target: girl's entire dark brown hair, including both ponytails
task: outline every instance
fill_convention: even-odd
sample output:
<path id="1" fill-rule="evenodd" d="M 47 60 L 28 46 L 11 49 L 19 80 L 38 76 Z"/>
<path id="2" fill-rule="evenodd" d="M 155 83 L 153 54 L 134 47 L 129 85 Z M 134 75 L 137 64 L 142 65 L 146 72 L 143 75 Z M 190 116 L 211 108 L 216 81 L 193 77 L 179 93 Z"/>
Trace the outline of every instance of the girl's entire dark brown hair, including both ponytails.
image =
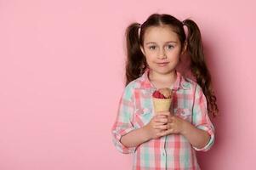
<path id="1" fill-rule="evenodd" d="M 181 22 L 169 14 L 151 14 L 142 25 L 133 23 L 128 26 L 126 30 L 128 56 L 126 61 L 126 85 L 145 72 L 147 64 L 145 56 L 140 50 L 140 46 L 143 47 L 146 29 L 151 26 L 163 25 L 171 26 L 177 33 L 181 48 L 184 48 L 185 42 L 187 42 L 186 51 L 191 57 L 191 72 L 196 77 L 196 82 L 200 85 L 203 94 L 207 98 L 208 112 L 212 113 L 213 116 L 217 116 L 219 109 L 213 93 L 210 72 L 204 59 L 201 33 L 193 20 L 184 20 Z M 183 26 L 187 26 L 188 28 L 187 37 L 185 36 Z"/>

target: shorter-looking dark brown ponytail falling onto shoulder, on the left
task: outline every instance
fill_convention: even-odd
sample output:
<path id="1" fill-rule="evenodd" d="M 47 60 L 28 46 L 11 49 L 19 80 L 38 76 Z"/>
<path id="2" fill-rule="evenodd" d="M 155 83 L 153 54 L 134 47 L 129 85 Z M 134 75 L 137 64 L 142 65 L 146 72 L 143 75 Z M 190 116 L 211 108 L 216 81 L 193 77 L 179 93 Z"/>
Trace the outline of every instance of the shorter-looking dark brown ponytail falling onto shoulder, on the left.
<path id="1" fill-rule="evenodd" d="M 140 50 L 139 27 L 138 23 L 133 23 L 126 30 L 126 85 L 140 77 L 146 68 L 145 56 Z"/>

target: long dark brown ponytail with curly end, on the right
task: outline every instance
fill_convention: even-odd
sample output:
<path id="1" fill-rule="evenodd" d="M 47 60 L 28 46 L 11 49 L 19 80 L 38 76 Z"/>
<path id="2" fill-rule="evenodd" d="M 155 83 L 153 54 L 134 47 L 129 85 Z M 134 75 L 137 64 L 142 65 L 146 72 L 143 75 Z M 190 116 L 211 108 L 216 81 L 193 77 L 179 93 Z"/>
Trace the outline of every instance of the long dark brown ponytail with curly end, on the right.
<path id="1" fill-rule="evenodd" d="M 188 28 L 187 51 L 191 56 L 191 72 L 207 98 L 208 112 L 217 116 L 219 109 L 213 93 L 211 75 L 204 59 L 200 30 L 193 20 L 184 20 L 183 24 Z"/>

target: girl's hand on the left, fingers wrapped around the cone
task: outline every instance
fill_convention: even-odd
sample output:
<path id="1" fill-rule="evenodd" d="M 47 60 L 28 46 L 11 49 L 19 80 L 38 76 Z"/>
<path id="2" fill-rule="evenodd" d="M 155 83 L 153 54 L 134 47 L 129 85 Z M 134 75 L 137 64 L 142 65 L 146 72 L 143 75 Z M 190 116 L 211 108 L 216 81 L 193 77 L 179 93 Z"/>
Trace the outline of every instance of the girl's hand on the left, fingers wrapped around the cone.
<path id="1" fill-rule="evenodd" d="M 169 114 L 169 112 L 159 112 L 156 116 L 153 116 L 151 122 L 145 125 L 145 129 L 147 130 L 150 139 L 158 139 L 162 137 L 161 133 L 166 129 L 162 129 L 160 127 L 168 124 Z"/>

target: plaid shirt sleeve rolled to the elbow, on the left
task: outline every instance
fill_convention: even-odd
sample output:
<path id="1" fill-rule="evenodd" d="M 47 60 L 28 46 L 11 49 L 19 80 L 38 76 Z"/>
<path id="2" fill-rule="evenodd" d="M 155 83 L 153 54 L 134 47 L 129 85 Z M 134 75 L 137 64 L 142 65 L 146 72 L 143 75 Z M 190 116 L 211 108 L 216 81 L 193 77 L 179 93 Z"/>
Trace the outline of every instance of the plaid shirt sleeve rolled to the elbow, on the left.
<path id="1" fill-rule="evenodd" d="M 133 92 L 128 87 L 126 87 L 122 94 L 122 98 L 119 101 L 116 122 L 111 128 L 113 144 L 116 146 L 117 150 L 123 154 L 133 153 L 136 149 L 136 147 L 126 147 L 120 141 L 123 135 L 135 129 L 132 123 L 133 114 Z"/>

